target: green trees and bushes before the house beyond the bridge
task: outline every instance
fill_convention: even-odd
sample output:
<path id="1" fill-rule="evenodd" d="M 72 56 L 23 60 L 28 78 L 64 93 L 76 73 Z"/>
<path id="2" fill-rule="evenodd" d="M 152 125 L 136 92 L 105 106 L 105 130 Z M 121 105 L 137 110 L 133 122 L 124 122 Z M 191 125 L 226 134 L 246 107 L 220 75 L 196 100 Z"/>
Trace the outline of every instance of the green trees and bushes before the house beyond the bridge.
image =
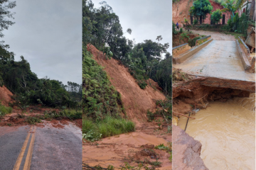
<path id="1" fill-rule="evenodd" d="M 219 31 L 235 33 L 235 35 L 240 34 L 240 36 L 243 35 L 246 38 L 248 26 L 255 27 L 255 21 L 253 20 L 253 11 L 255 11 L 255 6 L 251 5 L 250 8 L 248 8 L 247 4 L 245 13 L 242 13 L 239 17 L 237 11 L 242 7 L 242 4 L 244 4 L 246 0 L 220 0 L 215 2 L 221 4 L 223 9 L 212 11 L 213 8 L 210 7 L 210 2 L 208 0 L 197 0 L 193 2 L 193 6 L 190 8 L 190 13 L 194 17 L 193 25 L 198 24 L 198 18 L 205 18 L 207 13 L 211 13 L 211 21 L 213 24 L 219 23 L 222 18 L 222 13 L 225 12 L 228 13 L 228 25 L 219 27 Z M 252 4 L 255 4 L 255 0 L 252 1 Z M 201 28 L 203 30 L 215 30 L 215 27 L 210 27 L 208 24 L 198 26 L 196 28 Z"/>

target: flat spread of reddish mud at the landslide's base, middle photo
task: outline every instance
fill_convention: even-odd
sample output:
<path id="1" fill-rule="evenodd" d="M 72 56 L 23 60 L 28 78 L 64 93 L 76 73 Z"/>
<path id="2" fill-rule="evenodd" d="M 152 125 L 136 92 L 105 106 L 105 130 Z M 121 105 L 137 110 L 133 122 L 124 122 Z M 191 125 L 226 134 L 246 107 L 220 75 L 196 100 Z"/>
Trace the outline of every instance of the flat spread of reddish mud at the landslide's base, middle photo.
<path id="1" fill-rule="evenodd" d="M 157 169 L 171 169 L 168 152 L 154 149 L 156 145 L 167 142 L 153 135 L 142 132 L 131 132 L 114 137 L 108 137 L 100 142 L 84 143 L 82 145 L 82 161 L 90 166 L 100 165 L 107 168 L 109 164 L 121 169 L 128 162 L 130 166 L 138 166 L 137 162 L 161 162 Z M 107 153 L 107 154 L 105 154 Z M 150 167 L 150 165 L 149 165 Z"/>

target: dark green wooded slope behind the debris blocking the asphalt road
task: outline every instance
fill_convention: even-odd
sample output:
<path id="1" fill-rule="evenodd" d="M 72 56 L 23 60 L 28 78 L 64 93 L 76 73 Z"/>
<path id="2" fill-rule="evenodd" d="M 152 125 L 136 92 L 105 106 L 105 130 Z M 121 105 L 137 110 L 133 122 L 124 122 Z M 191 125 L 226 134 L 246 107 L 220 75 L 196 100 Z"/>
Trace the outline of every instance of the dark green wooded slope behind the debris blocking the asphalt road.
<path id="1" fill-rule="evenodd" d="M 4 49 L 1 51 L 4 52 Z M 47 77 L 38 79 L 23 56 L 16 62 L 14 55 L 6 51 L 6 55 L 0 57 L 0 76 L 5 86 L 14 94 L 16 105 L 22 109 L 38 103 L 54 107 L 78 105 L 78 101 L 70 98 L 62 82 Z"/>

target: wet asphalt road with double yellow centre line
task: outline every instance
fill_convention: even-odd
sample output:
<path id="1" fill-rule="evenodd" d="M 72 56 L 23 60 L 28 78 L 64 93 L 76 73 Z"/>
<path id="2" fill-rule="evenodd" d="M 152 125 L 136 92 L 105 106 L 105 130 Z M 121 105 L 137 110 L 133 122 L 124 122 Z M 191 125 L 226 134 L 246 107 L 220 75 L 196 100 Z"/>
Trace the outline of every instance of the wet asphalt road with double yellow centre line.
<path id="1" fill-rule="evenodd" d="M 0 127 L 0 170 L 82 169 L 82 132 L 73 124 Z"/>

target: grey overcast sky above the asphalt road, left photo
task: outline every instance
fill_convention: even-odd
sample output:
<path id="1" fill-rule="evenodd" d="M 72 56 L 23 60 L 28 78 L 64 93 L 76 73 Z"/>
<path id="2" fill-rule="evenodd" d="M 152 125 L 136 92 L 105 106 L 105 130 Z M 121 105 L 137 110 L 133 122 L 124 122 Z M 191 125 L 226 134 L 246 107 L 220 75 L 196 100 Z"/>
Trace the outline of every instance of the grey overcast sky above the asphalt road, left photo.
<path id="1" fill-rule="evenodd" d="M 82 83 L 82 1 L 18 0 L 5 44 L 23 55 L 38 78 Z"/>

